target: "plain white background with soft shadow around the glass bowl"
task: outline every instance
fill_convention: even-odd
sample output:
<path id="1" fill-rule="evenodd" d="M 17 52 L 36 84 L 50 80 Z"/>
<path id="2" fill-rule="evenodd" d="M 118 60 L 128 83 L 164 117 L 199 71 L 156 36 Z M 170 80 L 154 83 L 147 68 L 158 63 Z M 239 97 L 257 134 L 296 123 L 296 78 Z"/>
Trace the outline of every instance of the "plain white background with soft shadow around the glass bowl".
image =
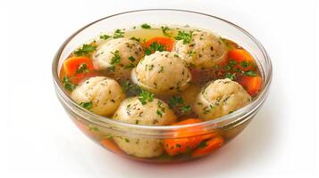
<path id="1" fill-rule="evenodd" d="M 119 158 L 81 134 L 56 99 L 51 62 L 63 40 L 92 20 L 145 8 L 231 20 L 270 54 L 269 99 L 218 154 L 177 165 Z M 305 0 L 1 1 L 0 177 L 318 177 L 318 11 Z"/>

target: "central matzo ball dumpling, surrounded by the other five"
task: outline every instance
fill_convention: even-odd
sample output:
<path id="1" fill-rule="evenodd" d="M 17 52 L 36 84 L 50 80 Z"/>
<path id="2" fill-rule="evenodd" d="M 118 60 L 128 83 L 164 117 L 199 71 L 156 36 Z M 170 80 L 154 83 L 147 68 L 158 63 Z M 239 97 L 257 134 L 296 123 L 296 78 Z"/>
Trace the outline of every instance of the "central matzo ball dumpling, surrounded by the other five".
<path id="1" fill-rule="evenodd" d="M 152 93 L 177 93 L 189 85 L 191 74 L 176 53 L 156 52 L 139 61 L 132 80 Z"/>

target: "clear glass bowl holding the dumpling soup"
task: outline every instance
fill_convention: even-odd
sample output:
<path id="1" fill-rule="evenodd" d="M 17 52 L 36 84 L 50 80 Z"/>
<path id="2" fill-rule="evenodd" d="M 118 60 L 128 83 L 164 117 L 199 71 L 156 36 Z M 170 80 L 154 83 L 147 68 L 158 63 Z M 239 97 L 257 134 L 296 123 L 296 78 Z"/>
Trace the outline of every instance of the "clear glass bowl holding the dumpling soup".
<path id="1" fill-rule="evenodd" d="M 214 120 L 192 124 L 192 125 L 172 125 L 172 126 L 151 126 L 151 125 L 131 125 L 112 120 L 107 117 L 98 116 L 86 109 L 81 108 L 71 100 L 63 90 L 63 85 L 59 81 L 59 71 L 63 61 L 80 44 L 88 42 L 92 37 L 98 36 L 101 32 L 112 31 L 115 28 L 131 28 L 134 25 L 143 23 L 167 24 L 167 25 L 189 25 L 191 27 L 205 28 L 214 31 L 218 35 L 231 39 L 240 46 L 248 50 L 256 59 L 256 63 L 261 71 L 264 81 L 262 91 L 256 99 L 242 109 L 238 109 L 231 114 L 219 117 Z M 192 152 L 170 157 L 162 154 L 155 158 L 143 158 L 134 151 L 143 149 L 137 146 L 139 142 L 158 142 L 167 139 L 175 139 L 182 142 L 185 138 L 196 138 L 203 135 L 218 135 L 225 143 L 236 137 L 252 120 L 261 108 L 267 97 L 269 86 L 272 80 L 272 63 L 265 52 L 264 47 L 254 36 L 251 36 L 243 28 L 218 17 L 201 12 L 190 12 L 172 9 L 150 9 L 132 12 L 122 12 L 94 21 L 87 26 L 80 28 L 62 44 L 55 55 L 52 65 L 55 91 L 59 101 L 71 117 L 71 120 L 80 130 L 87 134 L 89 138 L 102 145 L 106 150 L 113 151 L 122 157 L 137 159 L 140 161 L 154 163 L 171 163 L 191 160 L 194 158 Z M 203 128 L 205 132 L 203 132 Z M 183 134 L 180 135 L 182 130 Z M 129 150 L 126 153 L 121 150 L 113 139 L 123 139 L 128 144 Z M 131 145 L 133 144 L 136 145 Z M 125 143 L 124 143 L 125 144 Z M 161 147 L 164 147 L 161 144 Z M 162 149 L 162 148 L 160 148 Z M 214 151 L 212 151 L 214 152 Z M 210 153 L 210 152 L 209 152 Z M 208 154 L 201 155 L 206 156 Z"/>

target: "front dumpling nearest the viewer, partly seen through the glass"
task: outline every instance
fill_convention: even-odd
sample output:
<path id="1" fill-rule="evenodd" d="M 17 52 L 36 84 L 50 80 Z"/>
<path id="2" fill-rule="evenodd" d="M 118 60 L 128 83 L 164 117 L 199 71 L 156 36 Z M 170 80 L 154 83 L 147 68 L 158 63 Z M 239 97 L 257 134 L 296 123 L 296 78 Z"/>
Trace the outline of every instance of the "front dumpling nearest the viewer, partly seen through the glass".
<path id="1" fill-rule="evenodd" d="M 164 101 L 153 99 L 143 104 L 133 97 L 122 101 L 113 119 L 135 125 L 171 125 L 176 116 Z M 127 154 L 139 158 L 158 157 L 164 151 L 157 139 L 114 137 L 114 142 Z"/>

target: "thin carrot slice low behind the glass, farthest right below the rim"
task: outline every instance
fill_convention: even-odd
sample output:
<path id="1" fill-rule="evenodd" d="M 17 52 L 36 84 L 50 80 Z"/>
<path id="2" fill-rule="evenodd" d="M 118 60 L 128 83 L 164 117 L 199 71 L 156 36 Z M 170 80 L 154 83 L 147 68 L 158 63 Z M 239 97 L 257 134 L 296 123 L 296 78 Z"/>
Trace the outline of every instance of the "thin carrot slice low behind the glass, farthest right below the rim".
<path id="1" fill-rule="evenodd" d="M 203 147 L 197 148 L 197 150 L 194 150 L 191 154 L 191 157 L 198 158 L 198 157 L 204 157 L 208 155 L 209 153 L 213 152 L 214 150 L 218 150 L 222 147 L 224 141 L 221 136 L 217 136 L 207 142 L 205 142 L 205 145 Z"/>

